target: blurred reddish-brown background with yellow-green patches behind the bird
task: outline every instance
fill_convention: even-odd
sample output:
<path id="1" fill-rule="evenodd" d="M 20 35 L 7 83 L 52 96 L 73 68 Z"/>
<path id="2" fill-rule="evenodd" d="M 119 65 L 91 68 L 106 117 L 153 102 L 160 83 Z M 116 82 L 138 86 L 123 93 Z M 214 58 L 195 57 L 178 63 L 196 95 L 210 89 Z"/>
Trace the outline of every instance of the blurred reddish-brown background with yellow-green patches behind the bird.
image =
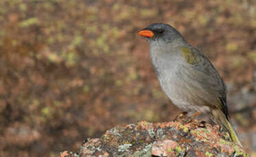
<path id="1" fill-rule="evenodd" d="M 181 113 L 137 32 L 168 23 L 209 57 L 256 152 L 256 1 L 1 0 L 0 156 L 56 156 L 88 137 Z"/>

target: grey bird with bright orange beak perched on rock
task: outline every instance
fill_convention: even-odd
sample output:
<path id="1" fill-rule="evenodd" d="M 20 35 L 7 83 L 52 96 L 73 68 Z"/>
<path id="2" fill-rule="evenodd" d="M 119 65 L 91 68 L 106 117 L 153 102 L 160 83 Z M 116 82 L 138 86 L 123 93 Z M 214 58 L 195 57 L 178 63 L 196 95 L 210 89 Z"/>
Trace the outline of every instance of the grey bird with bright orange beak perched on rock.
<path id="1" fill-rule="evenodd" d="M 185 112 L 209 115 L 243 147 L 229 116 L 226 86 L 211 61 L 165 23 L 153 23 L 138 35 L 148 40 L 152 65 L 172 103 Z"/>

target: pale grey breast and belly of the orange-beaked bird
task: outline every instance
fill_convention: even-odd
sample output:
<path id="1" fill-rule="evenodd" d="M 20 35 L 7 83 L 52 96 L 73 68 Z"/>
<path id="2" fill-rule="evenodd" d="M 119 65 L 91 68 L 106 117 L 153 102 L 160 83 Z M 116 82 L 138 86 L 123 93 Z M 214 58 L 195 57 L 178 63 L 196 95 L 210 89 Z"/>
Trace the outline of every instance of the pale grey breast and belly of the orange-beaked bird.
<path id="1" fill-rule="evenodd" d="M 192 69 L 181 56 L 157 55 L 152 57 L 152 63 L 163 91 L 176 106 L 185 111 L 209 111 L 208 107 L 202 107 L 206 103 L 203 98 L 207 95 L 205 89 L 187 76 Z"/>

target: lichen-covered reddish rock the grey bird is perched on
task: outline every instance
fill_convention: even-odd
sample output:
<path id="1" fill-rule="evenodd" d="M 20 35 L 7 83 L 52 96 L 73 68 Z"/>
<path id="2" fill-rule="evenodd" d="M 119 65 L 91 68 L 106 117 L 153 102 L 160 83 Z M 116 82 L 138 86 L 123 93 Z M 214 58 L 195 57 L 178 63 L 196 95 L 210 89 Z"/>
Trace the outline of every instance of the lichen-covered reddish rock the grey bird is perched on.
<path id="1" fill-rule="evenodd" d="M 139 122 L 115 127 L 100 137 L 84 142 L 77 153 L 60 152 L 60 157 L 77 156 L 249 156 L 231 142 L 220 126 L 187 120 Z"/>

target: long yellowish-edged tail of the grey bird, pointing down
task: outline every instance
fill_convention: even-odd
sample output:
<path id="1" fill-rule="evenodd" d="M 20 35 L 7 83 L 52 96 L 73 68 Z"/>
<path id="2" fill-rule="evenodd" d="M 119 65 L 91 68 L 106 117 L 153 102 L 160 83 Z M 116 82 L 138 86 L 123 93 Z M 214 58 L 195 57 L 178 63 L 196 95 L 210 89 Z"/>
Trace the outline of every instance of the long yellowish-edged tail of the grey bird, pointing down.
<path id="1" fill-rule="evenodd" d="M 219 109 L 213 110 L 213 117 L 214 119 L 222 124 L 222 126 L 229 132 L 229 135 L 231 137 L 231 140 L 235 143 L 238 143 L 241 147 L 243 147 L 242 143 L 238 139 L 237 133 L 235 132 L 235 128 L 233 127 L 231 123 L 231 119 L 229 118 L 229 115 L 224 115 L 222 111 Z"/>

